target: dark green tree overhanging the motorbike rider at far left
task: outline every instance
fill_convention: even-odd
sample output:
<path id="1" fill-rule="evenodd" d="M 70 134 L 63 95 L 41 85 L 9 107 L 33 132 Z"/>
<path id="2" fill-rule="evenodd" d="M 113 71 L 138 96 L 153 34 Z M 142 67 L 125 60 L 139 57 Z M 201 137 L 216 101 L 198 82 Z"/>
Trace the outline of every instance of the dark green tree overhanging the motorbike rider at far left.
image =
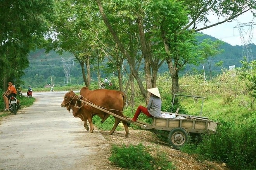
<path id="1" fill-rule="evenodd" d="M 0 2 L 0 84 L 19 83 L 28 67 L 28 53 L 40 46 L 48 20 L 54 16 L 54 0 L 2 0 Z"/>

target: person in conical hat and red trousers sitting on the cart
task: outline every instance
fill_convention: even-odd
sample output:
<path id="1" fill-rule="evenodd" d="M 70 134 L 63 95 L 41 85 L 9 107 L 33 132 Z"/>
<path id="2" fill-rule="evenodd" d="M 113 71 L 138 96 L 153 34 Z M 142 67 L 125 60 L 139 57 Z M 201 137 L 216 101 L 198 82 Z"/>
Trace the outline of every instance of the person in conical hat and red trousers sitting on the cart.
<path id="1" fill-rule="evenodd" d="M 161 117 L 162 100 L 158 88 L 150 88 L 147 89 L 147 91 L 151 93 L 147 107 L 139 105 L 133 118 L 128 118 L 130 121 L 137 121 L 140 112 L 144 113 L 148 117 Z"/>

